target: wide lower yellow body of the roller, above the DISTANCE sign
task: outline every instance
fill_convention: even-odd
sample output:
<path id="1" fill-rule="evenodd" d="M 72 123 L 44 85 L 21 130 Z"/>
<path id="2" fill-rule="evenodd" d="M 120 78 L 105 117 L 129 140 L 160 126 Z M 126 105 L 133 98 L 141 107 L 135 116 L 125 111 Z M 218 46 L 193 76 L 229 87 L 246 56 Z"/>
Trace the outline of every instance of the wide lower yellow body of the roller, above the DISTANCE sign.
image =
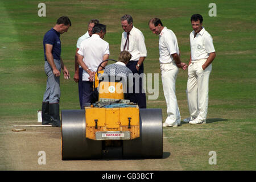
<path id="1" fill-rule="evenodd" d="M 96 132 L 98 131 L 129 131 L 130 137 L 125 139 L 134 139 L 139 137 L 138 107 L 88 107 L 85 109 L 85 118 L 86 138 L 96 140 Z"/>

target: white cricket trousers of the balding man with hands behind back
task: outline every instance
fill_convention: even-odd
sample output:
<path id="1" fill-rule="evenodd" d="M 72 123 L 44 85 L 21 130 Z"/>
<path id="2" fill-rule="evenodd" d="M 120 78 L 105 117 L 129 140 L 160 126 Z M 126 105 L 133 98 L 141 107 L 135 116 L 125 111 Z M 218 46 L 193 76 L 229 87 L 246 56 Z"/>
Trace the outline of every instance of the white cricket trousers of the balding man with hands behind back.
<path id="1" fill-rule="evenodd" d="M 174 125 L 180 123 L 180 110 L 177 105 L 177 98 L 175 94 L 175 82 L 179 68 L 175 63 L 160 64 L 162 84 L 164 97 L 167 104 L 167 118 L 166 123 L 168 125 Z"/>

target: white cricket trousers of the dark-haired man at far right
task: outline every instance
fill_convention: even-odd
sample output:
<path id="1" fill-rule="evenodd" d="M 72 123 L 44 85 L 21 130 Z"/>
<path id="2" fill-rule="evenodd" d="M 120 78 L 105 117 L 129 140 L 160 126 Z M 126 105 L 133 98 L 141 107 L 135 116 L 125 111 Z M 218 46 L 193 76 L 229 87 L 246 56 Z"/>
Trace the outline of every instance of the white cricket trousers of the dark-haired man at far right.
<path id="1" fill-rule="evenodd" d="M 207 59 L 196 60 L 188 66 L 187 98 L 188 109 L 191 119 L 199 118 L 201 121 L 207 119 L 209 76 L 212 64 L 205 70 L 202 65 Z"/>

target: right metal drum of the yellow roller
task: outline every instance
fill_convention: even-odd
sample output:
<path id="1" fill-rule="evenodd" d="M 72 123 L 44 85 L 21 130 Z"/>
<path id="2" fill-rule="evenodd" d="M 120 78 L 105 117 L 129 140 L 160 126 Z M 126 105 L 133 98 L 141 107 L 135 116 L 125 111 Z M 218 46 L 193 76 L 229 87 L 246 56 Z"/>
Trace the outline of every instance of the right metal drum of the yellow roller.
<path id="1" fill-rule="evenodd" d="M 161 109 L 139 109 L 140 137 L 123 140 L 123 158 L 162 158 L 163 124 Z"/>

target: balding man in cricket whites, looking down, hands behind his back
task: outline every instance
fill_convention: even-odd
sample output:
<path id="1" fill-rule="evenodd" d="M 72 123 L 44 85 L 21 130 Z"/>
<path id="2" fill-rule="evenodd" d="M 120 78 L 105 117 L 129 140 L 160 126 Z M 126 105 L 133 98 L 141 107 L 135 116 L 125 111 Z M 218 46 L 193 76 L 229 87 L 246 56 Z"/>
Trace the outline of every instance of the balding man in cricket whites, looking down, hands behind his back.
<path id="1" fill-rule="evenodd" d="M 159 62 L 162 75 L 164 97 L 167 104 L 167 118 L 163 127 L 177 127 L 180 125 L 180 111 L 175 94 L 175 83 L 179 68 L 187 69 L 187 64 L 180 60 L 180 51 L 174 32 L 159 18 L 152 18 L 148 22 L 150 30 L 159 35 Z"/>

